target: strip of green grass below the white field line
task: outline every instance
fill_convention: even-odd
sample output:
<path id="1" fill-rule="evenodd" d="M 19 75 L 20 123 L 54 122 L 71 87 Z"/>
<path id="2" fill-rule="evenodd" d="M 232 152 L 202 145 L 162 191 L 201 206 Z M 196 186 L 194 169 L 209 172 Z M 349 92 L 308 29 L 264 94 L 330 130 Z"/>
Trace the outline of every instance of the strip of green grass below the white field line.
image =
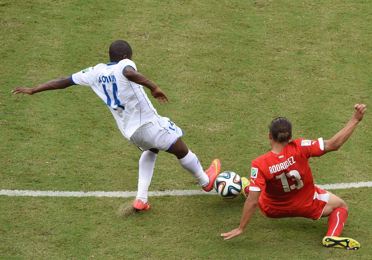
<path id="1" fill-rule="evenodd" d="M 333 191 L 350 207 L 343 235 L 358 251 L 321 244 L 327 218 L 269 219 L 257 210 L 246 232 L 237 227 L 243 198 L 157 197 L 148 212 L 115 216 L 130 199 L 1 197 L 4 258 L 25 259 L 367 259 L 371 249 L 369 188 Z M 186 214 L 185 214 L 186 213 Z"/>

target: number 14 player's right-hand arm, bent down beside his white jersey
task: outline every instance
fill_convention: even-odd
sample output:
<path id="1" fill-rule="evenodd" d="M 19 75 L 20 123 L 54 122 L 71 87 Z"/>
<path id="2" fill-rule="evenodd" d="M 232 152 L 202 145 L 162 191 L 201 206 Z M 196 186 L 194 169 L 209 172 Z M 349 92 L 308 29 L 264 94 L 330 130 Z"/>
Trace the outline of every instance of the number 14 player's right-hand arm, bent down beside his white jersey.
<path id="1" fill-rule="evenodd" d="M 163 103 L 167 104 L 167 102 L 169 102 L 167 95 L 160 88 L 158 88 L 158 86 L 155 85 L 155 83 L 151 82 L 151 80 L 149 80 L 147 77 L 145 77 L 141 73 L 135 71 L 132 67 L 126 66 L 123 71 L 123 74 L 130 81 L 140 84 L 150 89 L 151 96 L 153 96 L 154 98 L 157 98 L 161 105 Z"/>

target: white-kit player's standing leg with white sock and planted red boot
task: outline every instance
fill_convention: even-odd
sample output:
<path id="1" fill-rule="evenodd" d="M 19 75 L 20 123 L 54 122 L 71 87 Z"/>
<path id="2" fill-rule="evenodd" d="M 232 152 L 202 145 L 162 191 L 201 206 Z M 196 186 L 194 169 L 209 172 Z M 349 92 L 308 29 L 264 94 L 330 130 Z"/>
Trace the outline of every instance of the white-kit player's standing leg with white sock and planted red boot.
<path id="1" fill-rule="evenodd" d="M 159 150 L 151 148 L 144 151 L 140 158 L 140 169 L 138 176 L 138 191 L 133 207 L 137 210 L 147 210 L 150 205 L 147 201 L 147 191 L 154 173 L 154 166 Z"/>

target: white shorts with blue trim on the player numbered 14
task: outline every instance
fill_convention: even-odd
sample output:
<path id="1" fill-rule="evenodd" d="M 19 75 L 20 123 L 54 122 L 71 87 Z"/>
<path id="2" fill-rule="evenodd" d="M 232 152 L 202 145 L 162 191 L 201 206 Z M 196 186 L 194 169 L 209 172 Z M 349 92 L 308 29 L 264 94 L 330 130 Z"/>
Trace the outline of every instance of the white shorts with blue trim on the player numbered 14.
<path id="1" fill-rule="evenodd" d="M 170 121 L 168 117 L 160 117 L 154 123 L 141 126 L 128 141 L 136 145 L 141 151 L 147 151 L 151 148 L 166 151 L 182 135 L 183 130 Z"/>

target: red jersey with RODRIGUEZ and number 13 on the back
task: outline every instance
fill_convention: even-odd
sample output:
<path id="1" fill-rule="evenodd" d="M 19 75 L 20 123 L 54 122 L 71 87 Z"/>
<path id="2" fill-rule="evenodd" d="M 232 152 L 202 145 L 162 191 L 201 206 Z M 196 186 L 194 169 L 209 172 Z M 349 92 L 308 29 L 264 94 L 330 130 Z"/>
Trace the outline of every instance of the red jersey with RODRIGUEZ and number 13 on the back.
<path id="1" fill-rule="evenodd" d="M 268 152 L 252 161 L 251 191 L 274 209 L 297 209 L 314 198 L 315 186 L 308 159 L 324 155 L 323 138 L 296 139 L 279 153 Z"/>

